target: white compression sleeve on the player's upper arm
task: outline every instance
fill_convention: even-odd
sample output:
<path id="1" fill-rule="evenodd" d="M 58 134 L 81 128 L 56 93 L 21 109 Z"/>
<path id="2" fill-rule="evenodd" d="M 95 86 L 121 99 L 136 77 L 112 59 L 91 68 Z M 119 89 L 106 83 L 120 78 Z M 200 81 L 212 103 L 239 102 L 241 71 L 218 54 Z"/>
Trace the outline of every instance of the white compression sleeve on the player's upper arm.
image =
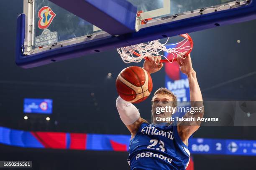
<path id="1" fill-rule="evenodd" d="M 116 107 L 125 125 L 131 125 L 141 117 L 138 109 L 132 103 L 123 100 L 120 96 L 116 99 Z"/>

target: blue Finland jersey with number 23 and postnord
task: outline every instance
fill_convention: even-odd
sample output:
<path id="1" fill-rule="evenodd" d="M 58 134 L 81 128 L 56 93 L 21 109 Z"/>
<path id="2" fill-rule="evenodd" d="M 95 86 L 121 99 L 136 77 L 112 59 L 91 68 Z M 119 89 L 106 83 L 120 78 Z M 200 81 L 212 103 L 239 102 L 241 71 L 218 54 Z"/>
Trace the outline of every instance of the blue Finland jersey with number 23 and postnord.
<path id="1" fill-rule="evenodd" d="M 177 126 L 142 123 L 130 142 L 131 170 L 185 170 L 190 153 L 179 137 Z"/>

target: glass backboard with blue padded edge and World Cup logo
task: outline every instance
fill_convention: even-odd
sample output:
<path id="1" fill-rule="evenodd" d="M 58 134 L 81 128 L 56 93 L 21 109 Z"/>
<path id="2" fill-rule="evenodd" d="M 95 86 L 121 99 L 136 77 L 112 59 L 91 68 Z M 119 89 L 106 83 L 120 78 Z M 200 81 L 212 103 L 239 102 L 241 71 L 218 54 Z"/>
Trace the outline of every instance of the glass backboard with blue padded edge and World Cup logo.
<path id="1" fill-rule="evenodd" d="M 37 67 L 253 20 L 255 14 L 255 0 L 24 0 L 16 64 Z"/>

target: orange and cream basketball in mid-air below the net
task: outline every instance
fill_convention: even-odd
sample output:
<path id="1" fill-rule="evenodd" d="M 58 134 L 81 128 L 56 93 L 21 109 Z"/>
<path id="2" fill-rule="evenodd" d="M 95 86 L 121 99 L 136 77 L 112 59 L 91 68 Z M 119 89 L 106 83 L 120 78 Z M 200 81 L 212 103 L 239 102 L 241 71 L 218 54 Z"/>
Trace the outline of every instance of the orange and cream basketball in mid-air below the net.
<path id="1" fill-rule="evenodd" d="M 131 103 L 146 100 L 153 88 L 150 74 L 137 66 L 123 69 L 118 75 L 115 85 L 120 97 Z"/>

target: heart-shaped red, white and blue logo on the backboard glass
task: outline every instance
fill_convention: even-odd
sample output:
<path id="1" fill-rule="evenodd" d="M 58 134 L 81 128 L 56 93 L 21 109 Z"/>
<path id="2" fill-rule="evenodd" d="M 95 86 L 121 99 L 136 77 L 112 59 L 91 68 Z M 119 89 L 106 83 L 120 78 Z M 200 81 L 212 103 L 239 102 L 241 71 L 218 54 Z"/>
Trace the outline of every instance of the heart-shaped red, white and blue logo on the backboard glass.
<path id="1" fill-rule="evenodd" d="M 38 17 L 40 18 L 38 21 L 38 28 L 42 30 L 48 28 L 55 16 L 56 14 L 51 10 L 50 7 L 42 7 L 38 11 Z"/>

